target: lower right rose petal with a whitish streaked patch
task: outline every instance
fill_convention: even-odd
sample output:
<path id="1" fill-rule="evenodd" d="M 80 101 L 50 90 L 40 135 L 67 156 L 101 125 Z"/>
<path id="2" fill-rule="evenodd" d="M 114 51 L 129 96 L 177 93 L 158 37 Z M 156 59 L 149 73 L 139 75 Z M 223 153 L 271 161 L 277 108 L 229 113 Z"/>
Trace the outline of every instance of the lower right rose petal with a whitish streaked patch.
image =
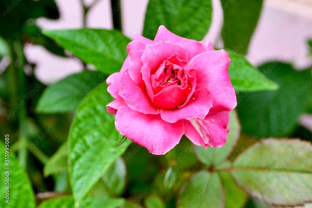
<path id="1" fill-rule="evenodd" d="M 196 145 L 222 147 L 227 141 L 229 111 L 208 114 L 205 119 L 183 120 L 185 136 Z"/>

